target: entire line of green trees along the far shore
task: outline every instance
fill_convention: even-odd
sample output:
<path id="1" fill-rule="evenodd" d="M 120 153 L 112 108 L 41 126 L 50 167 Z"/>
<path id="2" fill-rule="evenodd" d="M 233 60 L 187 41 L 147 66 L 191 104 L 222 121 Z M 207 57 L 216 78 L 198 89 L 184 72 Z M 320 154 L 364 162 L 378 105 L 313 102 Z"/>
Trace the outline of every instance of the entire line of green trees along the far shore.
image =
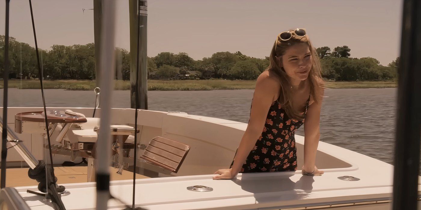
<path id="1" fill-rule="evenodd" d="M 0 71 L 4 67 L 5 36 L 0 36 Z M 10 72 L 13 78 L 37 78 L 34 47 L 10 38 Z M 93 79 L 95 78 L 94 44 L 53 45 L 51 50 L 40 50 L 44 78 L 50 79 Z M 375 58 L 350 58 L 347 46 L 317 48 L 322 63 L 322 76 L 335 80 L 384 80 L 395 79 L 399 58 L 381 66 Z M 130 55 L 125 49 L 116 48 L 116 79 L 130 79 Z M 256 79 L 269 65 L 269 58 L 253 58 L 241 52 L 218 52 L 202 60 L 194 60 L 187 53 L 159 53 L 147 58 L 148 73 L 171 78 L 186 71 L 211 73 L 215 78 Z M 2 74 L 3 75 L 3 74 Z"/>

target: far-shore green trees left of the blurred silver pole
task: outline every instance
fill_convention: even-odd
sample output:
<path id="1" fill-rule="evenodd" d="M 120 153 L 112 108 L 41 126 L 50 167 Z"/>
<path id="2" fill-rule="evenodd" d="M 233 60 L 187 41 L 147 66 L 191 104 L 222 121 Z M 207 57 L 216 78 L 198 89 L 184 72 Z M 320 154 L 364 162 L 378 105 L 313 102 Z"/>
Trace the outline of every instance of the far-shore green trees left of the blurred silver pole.
<path id="1" fill-rule="evenodd" d="M 0 36 L 0 70 L 4 71 L 5 36 Z M 87 45 L 53 45 L 51 50 L 39 49 L 44 78 L 90 79 L 95 76 L 95 50 L 93 43 Z M 37 78 L 35 48 L 27 43 L 9 39 L 9 78 Z"/>

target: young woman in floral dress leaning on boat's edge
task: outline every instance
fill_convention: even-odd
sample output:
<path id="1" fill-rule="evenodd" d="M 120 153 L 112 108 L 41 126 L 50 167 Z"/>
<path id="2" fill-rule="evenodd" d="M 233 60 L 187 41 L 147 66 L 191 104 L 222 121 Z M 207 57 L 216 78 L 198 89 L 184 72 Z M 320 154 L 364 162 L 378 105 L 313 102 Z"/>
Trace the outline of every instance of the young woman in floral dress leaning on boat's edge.
<path id="1" fill-rule="evenodd" d="M 320 176 L 315 166 L 320 139 L 323 80 L 319 57 L 305 29 L 278 34 L 269 67 L 257 78 L 250 119 L 234 160 L 213 179 L 238 173 L 296 171 L 294 132 L 304 124 L 303 175 Z"/>

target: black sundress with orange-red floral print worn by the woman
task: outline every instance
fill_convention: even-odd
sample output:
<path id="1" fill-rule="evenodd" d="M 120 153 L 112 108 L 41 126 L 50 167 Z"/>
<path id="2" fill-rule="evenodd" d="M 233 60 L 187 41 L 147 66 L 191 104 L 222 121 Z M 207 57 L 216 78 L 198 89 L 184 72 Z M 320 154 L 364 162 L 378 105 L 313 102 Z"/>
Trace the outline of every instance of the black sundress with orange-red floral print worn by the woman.
<path id="1" fill-rule="evenodd" d="M 310 96 L 307 100 L 306 110 L 301 113 L 304 114 L 304 118 L 309 107 L 309 101 Z M 239 173 L 296 171 L 297 150 L 294 133 L 303 123 L 304 119 L 297 121 L 289 118 L 277 100 L 272 102 L 263 132 Z M 233 164 L 234 160 L 232 160 L 229 168 L 232 168 Z"/>

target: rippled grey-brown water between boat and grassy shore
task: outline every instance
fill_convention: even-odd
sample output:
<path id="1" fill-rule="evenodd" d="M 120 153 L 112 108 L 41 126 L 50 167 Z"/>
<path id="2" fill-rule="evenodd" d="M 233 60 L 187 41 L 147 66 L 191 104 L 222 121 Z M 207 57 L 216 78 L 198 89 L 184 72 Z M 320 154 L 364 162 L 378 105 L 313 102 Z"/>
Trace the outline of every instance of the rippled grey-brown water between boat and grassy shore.
<path id="1" fill-rule="evenodd" d="M 149 91 L 149 110 L 183 111 L 247 123 L 253 92 Z M 392 164 L 396 94 L 396 88 L 327 89 L 320 119 L 321 141 Z M 0 96 L 2 101 L 3 91 Z M 113 98 L 113 107 L 130 108 L 129 91 L 115 91 Z M 94 100 L 93 91 L 45 90 L 47 107 L 93 107 Z M 8 106 L 40 107 L 40 90 L 9 89 Z M 304 129 L 297 134 L 304 134 Z"/>

